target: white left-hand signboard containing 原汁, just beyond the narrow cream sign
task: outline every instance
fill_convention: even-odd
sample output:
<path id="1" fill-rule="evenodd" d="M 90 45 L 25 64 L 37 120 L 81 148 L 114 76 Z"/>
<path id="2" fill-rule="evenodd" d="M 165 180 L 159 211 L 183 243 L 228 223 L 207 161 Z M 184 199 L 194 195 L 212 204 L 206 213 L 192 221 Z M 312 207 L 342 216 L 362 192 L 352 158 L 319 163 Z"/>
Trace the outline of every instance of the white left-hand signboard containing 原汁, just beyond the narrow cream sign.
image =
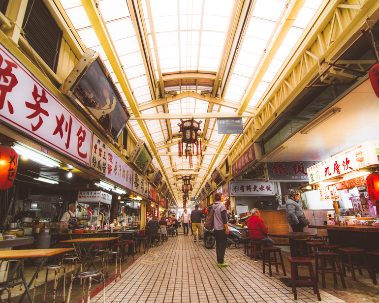
<path id="1" fill-rule="evenodd" d="M 106 177 L 131 189 L 133 170 L 116 153 L 108 149 Z"/>

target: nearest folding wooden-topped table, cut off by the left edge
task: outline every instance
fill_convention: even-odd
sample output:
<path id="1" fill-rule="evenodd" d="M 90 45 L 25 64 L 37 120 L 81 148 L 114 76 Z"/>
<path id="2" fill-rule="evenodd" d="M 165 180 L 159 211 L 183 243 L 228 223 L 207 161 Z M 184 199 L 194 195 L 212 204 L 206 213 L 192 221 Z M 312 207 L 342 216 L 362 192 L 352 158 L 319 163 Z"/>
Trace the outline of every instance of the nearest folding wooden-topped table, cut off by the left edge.
<path id="1" fill-rule="evenodd" d="M 8 241 L 8 240 L 7 240 Z M 42 267 L 42 264 L 44 263 L 45 259 L 47 257 L 55 256 L 62 254 L 64 252 L 72 251 L 74 248 L 46 248 L 46 249 L 20 249 L 20 250 L 1 250 L 0 251 L 0 260 L 6 261 L 6 260 L 15 260 L 18 259 L 17 264 L 14 266 L 11 273 L 8 273 L 6 284 L 10 285 L 11 282 L 21 279 L 22 281 L 19 284 L 24 284 L 25 292 L 21 296 L 19 303 L 21 303 L 25 295 L 28 295 L 30 302 L 33 303 L 32 296 L 29 292 L 30 287 L 32 286 L 32 283 L 37 276 L 37 273 Z M 27 285 L 26 279 L 24 276 L 24 259 L 29 258 L 42 258 L 41 263 L 39 264 L 37 270 L 35 271 L 31 281 Z M 18 269 L 21 266 L 21 276 L 13 277 L 15 273 L 18 273 Z"/>

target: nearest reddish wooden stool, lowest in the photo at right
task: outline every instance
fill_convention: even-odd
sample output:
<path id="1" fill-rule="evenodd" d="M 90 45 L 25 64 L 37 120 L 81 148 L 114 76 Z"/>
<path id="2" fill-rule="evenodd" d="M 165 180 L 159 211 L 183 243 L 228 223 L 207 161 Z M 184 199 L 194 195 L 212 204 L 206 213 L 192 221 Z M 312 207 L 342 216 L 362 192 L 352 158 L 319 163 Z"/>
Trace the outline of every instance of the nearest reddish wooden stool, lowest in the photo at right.
<path id="1" fill-rule="evenodd" d="M 309 257 L 288 257 L 288 261 L 291 264 L 291 277 L 292 277 L 292 293 L 294 299 L 297 300 L 297 284 L 309 284 L 313 285 L 313 292 L 317 295 L 317 300 L 321 301 L 320 293 L 318 291 L 318 286 L 316 282 L 315 272 L 313 271 L 312 259 Z M 307 266 L 311 276 L 298 276 L 295 275 L 295 269 L 298 266 Z M 311 278 L 311 281 L 300 280 L 299 278 Z"/>

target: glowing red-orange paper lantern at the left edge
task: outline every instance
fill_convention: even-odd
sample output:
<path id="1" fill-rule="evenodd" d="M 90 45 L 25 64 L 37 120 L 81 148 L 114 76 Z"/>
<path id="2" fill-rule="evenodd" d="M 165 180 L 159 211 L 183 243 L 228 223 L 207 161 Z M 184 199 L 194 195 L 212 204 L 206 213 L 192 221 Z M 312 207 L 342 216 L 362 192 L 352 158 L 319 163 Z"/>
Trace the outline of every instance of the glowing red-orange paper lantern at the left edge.
<path id="1" fill-rule="evenodd" d="M 16 177 L 18 154 L 6 145 L 0 145 L 0 189 L 8 189 Z"/>

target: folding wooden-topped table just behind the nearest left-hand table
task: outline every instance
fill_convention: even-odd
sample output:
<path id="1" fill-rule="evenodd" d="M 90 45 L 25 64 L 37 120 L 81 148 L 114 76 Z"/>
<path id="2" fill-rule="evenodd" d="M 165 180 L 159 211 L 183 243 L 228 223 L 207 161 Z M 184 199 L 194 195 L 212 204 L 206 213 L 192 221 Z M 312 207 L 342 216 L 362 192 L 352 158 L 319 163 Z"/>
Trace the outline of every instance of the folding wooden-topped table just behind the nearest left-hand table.
<path id="1" fill-rule="evenodd" d="M 119 237 L 108 237 L 108 238 L 85 238 L 85 239 L 71 239 L 71 240 L 64 240 L 64 241 L 61 241 L 61 243 L 72 243 L 72 245 L 74 246 L 75 248 L 75 251 L 78 253 L 79 255 L 79 258 L 80 258 L 80 262 L 84 268 L 84 271 L 87 271 L 87 268 L 86 268 L 86 260 L 88 257 L 90 257 L 91 259 L 91 265 L 93 265 L 95 267 L 95 271 L 97 271 L 97 268 L 96 268 L 96 265 L 95 265 L 95 261 L 94 261 L 94 258 L 96 257 L 97 255 L 97 252 L 99 251 L 99 249 L 101 248 L 101 243 L 102 242 L 109 242 L 109 241 L 115 241 L 115 240 L 118 240 Z M 91 251 L 93 249 L 93 246 L 95 243 L 98 243 L 100 244 L 99 247 L 97 248 L 97 250 L 95 251 L 95 255 L 94 257 L 92 256 L 91 254 Z M 86 245 L 87 244 L 91 244 L 90 247 L 88 247 L 86 249 Z M 76 245 L 76 246 L 75 246 Z M 82 252 L 83 250 L 83 252 Z M 90 268 L 91 265 L 88 267 Z M 80 270 L 80 267 L 78 268 L 78 271 Z"/>

